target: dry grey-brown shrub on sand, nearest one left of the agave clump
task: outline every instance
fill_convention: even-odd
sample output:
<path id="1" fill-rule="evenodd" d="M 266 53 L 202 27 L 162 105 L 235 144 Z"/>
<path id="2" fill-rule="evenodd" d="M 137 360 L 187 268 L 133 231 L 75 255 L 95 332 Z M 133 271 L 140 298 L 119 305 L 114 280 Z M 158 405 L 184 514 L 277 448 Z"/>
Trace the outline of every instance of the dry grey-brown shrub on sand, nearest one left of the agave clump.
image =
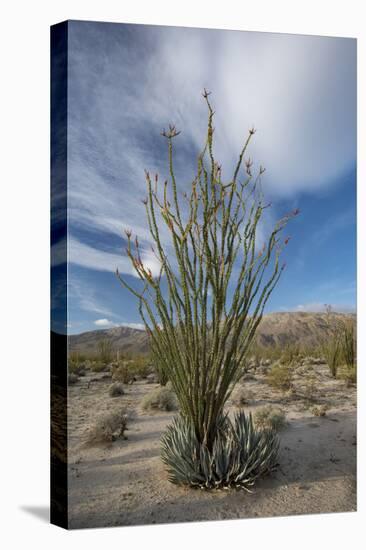
<path id="1" fill-rule="evenodd" d="M 119 437 L 126 439 L 127 411 L 125 408 L 101 415 L 89 429 L 87 443 L 111 443 Z"/>

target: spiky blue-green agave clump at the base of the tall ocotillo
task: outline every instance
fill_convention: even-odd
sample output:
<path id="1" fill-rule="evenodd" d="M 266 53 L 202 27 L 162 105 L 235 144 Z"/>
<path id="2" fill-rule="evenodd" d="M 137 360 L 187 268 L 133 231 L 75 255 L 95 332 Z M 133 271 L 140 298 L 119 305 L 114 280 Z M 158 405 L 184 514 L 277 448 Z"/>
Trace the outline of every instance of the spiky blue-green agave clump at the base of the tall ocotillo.
<path id="1" fill-rule="evenodd" d="M 257 430 L 243 411 L 231 421 L 219 419 L 212 450 L 200 443 L 194 425 L 178 415 L 162 436 L 162 460 L 169 480 L 205 489 L 247 489 L 276 465 L 279 441 L 272 431 Z"/>

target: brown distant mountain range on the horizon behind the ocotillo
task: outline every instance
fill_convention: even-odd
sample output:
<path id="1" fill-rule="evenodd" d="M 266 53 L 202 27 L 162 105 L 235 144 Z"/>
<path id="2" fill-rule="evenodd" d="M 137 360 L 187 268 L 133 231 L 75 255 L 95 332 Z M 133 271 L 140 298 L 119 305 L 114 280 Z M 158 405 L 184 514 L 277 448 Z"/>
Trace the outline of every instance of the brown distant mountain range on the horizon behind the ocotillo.
<path id="1" fill-rule="evenodd" d="M 355 314 L 331 313 L 330 321 L 335 322 L 345 318 L 356 321 Z M 316 345 L 320 339 L 329 334 L 329 324 L 326 313 L 281 312 L 269 313 L 257 329 L 257 341 L 263 346 L 300 343 Z M 95 354 L 98 342 L 108 339 L 113 349 L 121 353 L 149 352 L 149 340 L 144 330 L 129 327 L 114 327 L 103 330 L 93 330 L 69 336 L 69 351 Z"/>

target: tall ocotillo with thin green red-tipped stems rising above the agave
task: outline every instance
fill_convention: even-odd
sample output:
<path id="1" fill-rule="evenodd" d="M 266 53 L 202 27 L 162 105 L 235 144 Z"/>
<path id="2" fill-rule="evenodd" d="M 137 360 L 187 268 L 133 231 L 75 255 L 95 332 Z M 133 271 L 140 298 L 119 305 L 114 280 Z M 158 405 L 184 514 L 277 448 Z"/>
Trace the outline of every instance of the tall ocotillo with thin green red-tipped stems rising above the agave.
<path id="1" fill-rule="evenodd" d="M 154 276 L 144 265 L 138 238 L 127 231 L 127 254 L 142 290 L 117 275 L 138 298 L 181 414 L 192 423 L 199 443 L 212 449 L 224 405 L 284 269 L 279 255 L 288 239 L 281 244 L 280 233 L 298 210 L 280 219 L 258 250 L 258 226 L 270 205 L 264 204 L 260 190 L 264 169 L 253 175 L 246 156 L 255 130 L 249 130 L 225 183 L 214 158 L 214 112 L 206 90 L 203 97 L 207 135 L 189 190 L 181 197 L 173 159 L 173 142 L 180 134 L 175 126 L 162 132 L 168 145 L 168 181 L 160 188 L 158 175 L 146 172 L 144 204 L 160 272 Z M 162 231 L 168 232 L 171 248 Z"/>

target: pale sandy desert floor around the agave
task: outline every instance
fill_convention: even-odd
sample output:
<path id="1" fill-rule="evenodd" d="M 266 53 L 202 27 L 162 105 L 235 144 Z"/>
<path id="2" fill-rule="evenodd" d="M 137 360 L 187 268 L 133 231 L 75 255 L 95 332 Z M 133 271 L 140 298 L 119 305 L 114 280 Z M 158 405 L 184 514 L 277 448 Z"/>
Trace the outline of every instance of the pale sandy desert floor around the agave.
<path id="1" fill-rule="evenodd" d="M 159 438 L 174 413 L 146 413 L 139 407 L 157 385 L 141 380 L 111 398 L 105 373 L 80 378 L 69 388 L 70 528 L 355 511 L 356 389 L 333 380 L 325 365 L 315 365 L 314 371 L 314 401 L 329 406 L 324 417 L 313 416 L 301 398 L 301 374 L 295 377 L 295 395 L 288 397 L 268 386 L 264 374 L 244 381 L 252 394 L 245 410 L 280 405 L 288 421 L 280 432 L 279 467 L 252 493 L 169 483 Z M 97 415 L 121 406 L 130 411 L 128 439 L 86 446 Z"/>

